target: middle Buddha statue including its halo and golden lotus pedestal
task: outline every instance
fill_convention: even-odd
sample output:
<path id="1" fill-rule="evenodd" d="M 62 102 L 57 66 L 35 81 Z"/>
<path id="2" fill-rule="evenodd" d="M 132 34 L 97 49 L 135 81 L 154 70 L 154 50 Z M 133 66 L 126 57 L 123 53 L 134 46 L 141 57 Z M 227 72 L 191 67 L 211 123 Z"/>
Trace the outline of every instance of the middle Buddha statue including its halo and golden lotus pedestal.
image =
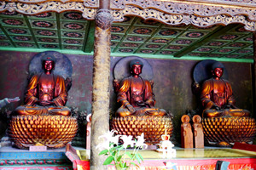
<path id="1" fill-rule="evenodd" d="M 119 108 L 110 121 L 110 128 L 119 135 L 134 138 L 144 133 L 146 144 L 155 149 L 162 135 L 172 137 L 170 112 L 167 114 L 154 106 L 154 72 L 148 61 L 137 56 L 119 59 L 113 68 L 113 77 Z"/>

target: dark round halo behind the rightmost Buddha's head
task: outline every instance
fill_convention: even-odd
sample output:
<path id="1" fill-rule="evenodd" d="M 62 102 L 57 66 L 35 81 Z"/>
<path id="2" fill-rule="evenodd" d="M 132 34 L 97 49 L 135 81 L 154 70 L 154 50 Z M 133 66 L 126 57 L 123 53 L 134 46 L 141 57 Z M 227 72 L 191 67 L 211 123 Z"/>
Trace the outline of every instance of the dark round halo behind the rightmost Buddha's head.
<path id="1" fill-rule="evenodd" d="M 212 77 L 212 64 L 215 62 L 217 61 L 213 59 L 205 59 L 197 63 L 193 71 L 194 81 L 202 84 L 205 80 L 210 79 Z M 228 79 L 228 72 L 225 68 L 222 78 Z"/>

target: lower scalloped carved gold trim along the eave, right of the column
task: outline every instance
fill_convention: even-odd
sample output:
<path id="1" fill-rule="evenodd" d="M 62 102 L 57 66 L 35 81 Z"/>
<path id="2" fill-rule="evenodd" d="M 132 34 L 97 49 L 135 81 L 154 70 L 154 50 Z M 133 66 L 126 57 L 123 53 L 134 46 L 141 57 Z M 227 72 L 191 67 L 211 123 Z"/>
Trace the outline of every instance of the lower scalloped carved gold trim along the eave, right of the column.
<path id="1" fill-rule="evenodd" d="M 194 26 L 207 27 L 217 24 L 229 25 L 232 23 L 241 23 L 245 25 L 247 31 L 256 30 L 256 22 L 247 20 L 247 17 L 241 14 L 229 16 L 227 14 L 216 14 L 212 16 L 199 16 L 196 14 L 166 14 L 154 8 L 139 8 L 126 5 L 123 10 L 113 10 L 114 22 L 125 20 L 124 16 L 136 15 L 144 20 L 158 20 L 166 25 L 177 26 L 180 24 L 192 24 Z"/>

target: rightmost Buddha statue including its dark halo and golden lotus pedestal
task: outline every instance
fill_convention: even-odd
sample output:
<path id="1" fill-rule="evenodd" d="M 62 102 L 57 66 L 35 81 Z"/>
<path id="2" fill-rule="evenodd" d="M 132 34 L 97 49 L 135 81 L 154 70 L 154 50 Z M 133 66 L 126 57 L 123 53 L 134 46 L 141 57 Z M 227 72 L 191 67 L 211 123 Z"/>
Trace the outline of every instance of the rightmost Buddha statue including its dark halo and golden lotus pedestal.
<path id="1" fill-rule="evenodd" d="M 236 142 L 252 144 L 255 120 L 249 111 L 236 107 L 224 65 L 213 59 L 202 60 L 195 65 L 193 76 L 194 92 L 201 103 L 197 111 L 202 114 L 205 144 L 221 147 L 230 147 Z"/>

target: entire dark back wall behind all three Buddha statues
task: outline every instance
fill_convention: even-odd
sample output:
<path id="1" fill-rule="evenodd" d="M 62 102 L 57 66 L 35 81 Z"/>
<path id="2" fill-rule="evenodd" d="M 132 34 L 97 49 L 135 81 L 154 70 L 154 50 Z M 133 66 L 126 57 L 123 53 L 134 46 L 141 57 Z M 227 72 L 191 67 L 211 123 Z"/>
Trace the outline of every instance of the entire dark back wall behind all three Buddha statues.
<path id="1" fill-rule="evenodd" d="M 0 51 L 0 99 L 20 97 L 20 102 L 8 107 L 15 109 L 23 103 L 27 84 L 28 64 L 37 53 Z M 91 111 L 92 65 L 93 57 L 66 54 L 73 64 L 73 86 L 69 91 L 68 106 L 75 106 L 79 111 Z M 110 110 L 116 111 L 116 95 L 113 92 L 113 66 L 121 59 L 111 58 Z M 176 127 L 180 117 L 187 110 L 195 110 L 197 101 L 192 94 L 192 71 L 198 61 L 180 59 L 147 59 L 154 70 L 154 94 L 156 106 L 174 115 Z M 251 64 L 223 62 L 229 72 L 236 105 L 253 110 Z M 179 132 L 177 130 L 177 132 Z"/>

